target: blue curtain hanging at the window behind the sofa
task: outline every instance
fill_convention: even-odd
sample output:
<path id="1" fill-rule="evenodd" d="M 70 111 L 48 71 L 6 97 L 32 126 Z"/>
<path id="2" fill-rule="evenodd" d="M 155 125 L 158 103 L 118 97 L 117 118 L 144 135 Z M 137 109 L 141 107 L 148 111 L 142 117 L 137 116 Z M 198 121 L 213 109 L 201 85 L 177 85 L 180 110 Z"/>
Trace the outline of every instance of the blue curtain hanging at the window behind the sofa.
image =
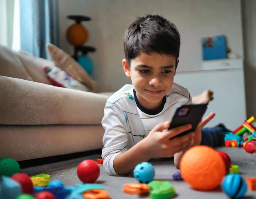
<path id="1" fill-rule="evenodd" d="M 58 0 L 20 0 L 20 49 L 49 59 L 47 43 L 59 46 Z"/>

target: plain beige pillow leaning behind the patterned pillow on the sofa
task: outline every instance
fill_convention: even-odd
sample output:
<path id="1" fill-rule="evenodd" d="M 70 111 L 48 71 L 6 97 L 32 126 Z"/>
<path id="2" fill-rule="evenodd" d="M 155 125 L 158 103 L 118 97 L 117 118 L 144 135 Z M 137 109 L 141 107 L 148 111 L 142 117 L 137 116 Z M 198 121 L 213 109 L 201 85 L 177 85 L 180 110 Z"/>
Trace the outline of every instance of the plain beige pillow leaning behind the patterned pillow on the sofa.
<path id="1" fill-rule="evenodd" d="M 92 92 L 99 92 L 99 84 L 92 80 L 90 75 L 72 56 L 53 44 L 47 44 L 47 49 L 56 67 L 86 85 Z"/>

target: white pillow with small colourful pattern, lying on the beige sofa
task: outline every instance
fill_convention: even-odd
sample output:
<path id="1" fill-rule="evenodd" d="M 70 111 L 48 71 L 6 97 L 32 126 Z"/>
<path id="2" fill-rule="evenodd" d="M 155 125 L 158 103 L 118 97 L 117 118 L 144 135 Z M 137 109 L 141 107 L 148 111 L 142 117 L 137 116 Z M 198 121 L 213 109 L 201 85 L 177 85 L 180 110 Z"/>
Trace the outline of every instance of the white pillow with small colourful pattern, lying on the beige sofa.
<path id="1" fill-rule="evenodd" d="M 78 80 L 75 80 L 58 67 L 43 66 L 43 69 L 54 86 L 89 91 L 88 87 L 83 85 Z"/>

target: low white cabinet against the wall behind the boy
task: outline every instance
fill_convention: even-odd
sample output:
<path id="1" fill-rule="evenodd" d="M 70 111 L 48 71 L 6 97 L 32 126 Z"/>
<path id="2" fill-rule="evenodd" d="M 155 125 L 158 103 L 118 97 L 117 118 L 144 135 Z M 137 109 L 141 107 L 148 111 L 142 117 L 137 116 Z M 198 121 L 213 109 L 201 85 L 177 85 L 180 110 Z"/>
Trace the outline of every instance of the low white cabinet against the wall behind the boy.
<path id="1" fill-rule="evenodd" d="M 216 116 L 207 126 L 224 123 L 234 130 L 247 119 L 243 59 L 204 61 L 202 65 L 204 70 L 177 72 L 174 82 L 188 88 L 191 96 L 212 89 L 214 100 L 209 103 L 205 116 L 210 112 Z"/>

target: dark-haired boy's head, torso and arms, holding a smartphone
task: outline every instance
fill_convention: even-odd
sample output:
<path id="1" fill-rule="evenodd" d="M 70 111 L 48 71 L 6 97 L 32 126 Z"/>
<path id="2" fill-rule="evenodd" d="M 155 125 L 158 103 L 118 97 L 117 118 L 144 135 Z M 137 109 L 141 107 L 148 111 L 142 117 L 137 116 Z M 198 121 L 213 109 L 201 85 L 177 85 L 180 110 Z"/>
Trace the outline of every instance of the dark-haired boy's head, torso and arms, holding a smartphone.
<path id="1" fill-rule="evenodd" d="M 125 32 L 124 52 L 122 64 L 132 85 L 122 87 L 106 103 L 104 169 L 109 175 L 124 175 L 153 157 L 173 156 L 179 168 L 184 152 L 200 145 L 202 128 L 215 115 L 203 119 L 195 132 L 171 139 L 191 128 L 184 125 L 168 130 L 176 108 L 192 103 L 189 91 L 173 82 L 180 34 L 162 16 L 140 17 Z"/>

